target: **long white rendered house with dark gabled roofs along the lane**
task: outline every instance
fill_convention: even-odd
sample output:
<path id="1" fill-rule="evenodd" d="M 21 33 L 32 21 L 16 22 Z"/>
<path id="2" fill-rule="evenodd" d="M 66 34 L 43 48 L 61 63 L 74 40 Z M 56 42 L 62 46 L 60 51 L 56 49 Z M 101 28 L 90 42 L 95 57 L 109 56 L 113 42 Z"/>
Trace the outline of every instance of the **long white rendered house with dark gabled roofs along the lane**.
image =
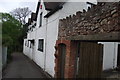
<path id="1" fill-rule="evenodd" d="M 52 6 L 53 4 L 54 6 Z M 54 46 L 58 39 L 59 19 L 73 15 L 83 9 L 87 10 L 89 5 L 86 2 L 51 3 L 45 5 L 41 0 L 39 6 L 41 8 L 38 10 L 36 26 L 27 33 L 27 39 L 24 39 L 23 52 L 51 76 L 54 76 Z M 52 11 L 47 8 L 53 9 L 53 13 L 51 14 Z M 28 27 L 30 28 L 34 24 L 33 22 Z M 34 41 L 34 45 L 31 44 L 30 40 Z M 38 49 L 39 44 L 42 44 L 40 49 Z"/>

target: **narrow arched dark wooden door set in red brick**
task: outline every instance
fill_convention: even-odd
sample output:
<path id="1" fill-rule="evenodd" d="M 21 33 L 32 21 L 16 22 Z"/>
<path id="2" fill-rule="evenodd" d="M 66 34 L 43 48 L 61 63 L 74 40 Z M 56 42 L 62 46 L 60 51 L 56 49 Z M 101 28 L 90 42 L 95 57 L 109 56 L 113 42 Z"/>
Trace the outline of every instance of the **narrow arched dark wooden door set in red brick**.
<path id="1" fill-rule="evenodd" d="M 66 54 L 66 45 L 65 44 L 59 44 L 59 68 L 60 73 L 59 77 L 64 78 L 64 71 L 65 71 L 65 54 Z"/>

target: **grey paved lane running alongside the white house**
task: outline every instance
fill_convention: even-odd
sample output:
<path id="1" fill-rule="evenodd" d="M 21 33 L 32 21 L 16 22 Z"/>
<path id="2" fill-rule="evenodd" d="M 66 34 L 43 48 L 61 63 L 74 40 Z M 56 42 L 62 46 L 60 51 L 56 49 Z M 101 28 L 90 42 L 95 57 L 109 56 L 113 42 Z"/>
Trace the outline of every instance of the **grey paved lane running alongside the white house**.
<path id="1" fill-rule="evenodd" d="M 3 71 L 3 78 L 46 78 L 42 70 L 22 53 L 13 53 L 13 60 Z"/>

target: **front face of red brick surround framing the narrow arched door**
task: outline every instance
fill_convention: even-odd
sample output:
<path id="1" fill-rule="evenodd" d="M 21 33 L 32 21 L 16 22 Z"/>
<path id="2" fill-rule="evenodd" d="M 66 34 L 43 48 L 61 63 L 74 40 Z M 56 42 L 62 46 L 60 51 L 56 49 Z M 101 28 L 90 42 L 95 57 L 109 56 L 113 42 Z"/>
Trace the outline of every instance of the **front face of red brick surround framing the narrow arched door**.
<path id="1" fill-rule="evenodd" d="M 66 45 L 66 59 L 65 59 L 65 78 L 68 78 L 68 74 L 69 74 L 69 60 L 70 60 L 70 41 L 69 40 L 58 40 L 56 42 L 56 52 L 55 52 L 55 77 L 56 78 L 61 78 L 60 76 L 60 52 L 59 52 L 59 44 L 65 44 Z"/>

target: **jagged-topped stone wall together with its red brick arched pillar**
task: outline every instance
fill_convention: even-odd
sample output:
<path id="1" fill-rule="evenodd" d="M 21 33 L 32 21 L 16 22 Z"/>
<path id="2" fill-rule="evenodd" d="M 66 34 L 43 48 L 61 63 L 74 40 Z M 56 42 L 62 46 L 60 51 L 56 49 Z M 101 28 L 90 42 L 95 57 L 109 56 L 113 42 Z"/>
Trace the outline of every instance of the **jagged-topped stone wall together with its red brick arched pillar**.
<path id="1" fill-rule="evenodd" d="M 68 40 L 78 35 L 94 35 L 101 33 L 120 32 L 120 2 L 98 3 L 86 12 L 77 12 L 76 15 L 61 19 L 59 34 L 56 41 L 55 77 L 60 78 L 59 44 L 66 45 L 65 78 L 75 78 L 77 41 Z"/>

